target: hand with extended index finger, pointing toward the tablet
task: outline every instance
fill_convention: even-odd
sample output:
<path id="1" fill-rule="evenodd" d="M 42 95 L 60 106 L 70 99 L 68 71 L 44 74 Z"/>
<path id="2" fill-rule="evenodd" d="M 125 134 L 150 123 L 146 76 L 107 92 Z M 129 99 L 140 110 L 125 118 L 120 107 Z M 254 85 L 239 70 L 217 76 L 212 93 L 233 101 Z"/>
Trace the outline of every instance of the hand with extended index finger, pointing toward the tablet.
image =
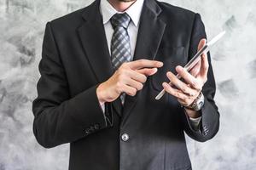
<path id="1" fill-rule="evenodd" d="M 163 65 L 160 61 L 139 59 L 122 64 L 113 76 L 106 82 L 102 82 L 96 89 L 97 97 L 101 105 L 105 102 L 112 102 L 120 94 L 125 93 L 131 96 L 143 89 L 143 83 L 147 76 L 157 72 L 157 68 Z"/>

